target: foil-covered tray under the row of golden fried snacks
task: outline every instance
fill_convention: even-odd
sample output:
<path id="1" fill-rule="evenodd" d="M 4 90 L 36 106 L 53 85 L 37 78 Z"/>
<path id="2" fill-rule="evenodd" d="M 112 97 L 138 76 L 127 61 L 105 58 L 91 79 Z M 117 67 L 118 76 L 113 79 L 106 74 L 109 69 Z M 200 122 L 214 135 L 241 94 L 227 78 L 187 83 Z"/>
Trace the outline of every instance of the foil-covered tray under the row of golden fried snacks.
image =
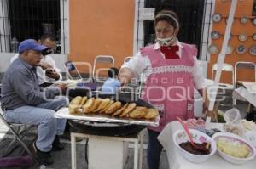
<path id="1" fill-rule="evenodd" d="M 120 102 L 124 103 L 131 103 L 135 102 L 137 106 L 146 106 L 148 108 L 154 108 L 153 105 L 149 104 L 148 102 L 143 101 L 142 99 L 134 99 L 130 98 L 127 94 L 119 94 L 119 95 L 109 95 L 109 94 L 100 94 L 94 97 L 99 98 L 111 98 L 114 100 L 119 100 Z M 98 121 L 98 122 L 108 122 L 108 123 L 125 123 L 125 124 L 137 124 L 137 125 L 144 125 L 144 126 L 152 126 L 157 127 L 159 126 L 160 117 L 156 117 L 154 120 L 147 120 L 147 119 L 131 119 L 131 118 L 119 118 L 119 117 L 112 117 L 110 115 L 104 114 L 96 114 L 96 113 L 78 113 L 78 114 L 69 114 L 68 108 L 64 107 L 58 110 L 55 113 L 56 118 L 65 118 L 65 119 L 73 119 L 73 120 L 84 120 L 84 121 Z"/>

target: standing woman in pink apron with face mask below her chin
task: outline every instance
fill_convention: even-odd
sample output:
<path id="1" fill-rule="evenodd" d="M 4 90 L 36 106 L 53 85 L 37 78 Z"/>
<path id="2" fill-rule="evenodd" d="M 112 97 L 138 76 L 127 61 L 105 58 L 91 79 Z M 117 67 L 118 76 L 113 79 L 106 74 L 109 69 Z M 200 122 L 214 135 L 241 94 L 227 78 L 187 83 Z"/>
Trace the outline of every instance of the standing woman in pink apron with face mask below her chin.
<path id="1" fill-rule="evenodd" d="M 119 78 L 125 84 L 142 72 L 146 75 L 142 99 L 160 110 L 160 126 L 148 127 L 148 169 L 158 169 L 162 145 L 157 137 L 177 116 L 194 116 L 194 88 L 203 93 L 204 77 L 198 65 L 197 49 L 177 40 L 177 14 L 162 10 L 154 18 L 156 43 L 142 48 L 121 67 Z"/>

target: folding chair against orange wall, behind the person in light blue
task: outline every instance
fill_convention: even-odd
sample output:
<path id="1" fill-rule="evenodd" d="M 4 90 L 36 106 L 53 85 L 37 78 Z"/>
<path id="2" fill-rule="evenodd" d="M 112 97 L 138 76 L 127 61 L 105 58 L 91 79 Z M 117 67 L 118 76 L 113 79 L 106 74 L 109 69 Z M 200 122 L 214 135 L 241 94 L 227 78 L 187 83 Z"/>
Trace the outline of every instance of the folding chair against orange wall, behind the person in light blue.
<path id="1" fill-rule="evenodd" d="M 114 65 L 114 58 L 113 56 L 110 55 L 98 55 L 94 59 L 94 64 L 93 64 L 93 70 L 92 70 L 92 77 L 95 80 L 99 79 L 99 76 L 97 76 L 98 72 L 96 72 L 96 65 L 98 64 L 109 64 L 110 66 L 104 67 L 104 68 L 99 68 L 98 70 L 107 70 L 110 67 L 113 67 Z"/>

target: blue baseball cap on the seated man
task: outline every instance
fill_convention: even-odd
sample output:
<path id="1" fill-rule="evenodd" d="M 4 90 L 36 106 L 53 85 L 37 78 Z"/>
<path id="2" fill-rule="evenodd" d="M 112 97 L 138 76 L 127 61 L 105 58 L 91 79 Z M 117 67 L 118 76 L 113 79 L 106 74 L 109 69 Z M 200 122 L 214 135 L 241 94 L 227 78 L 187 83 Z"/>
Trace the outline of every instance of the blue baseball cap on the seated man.
<path id="1" fill-rule="evenodd" d="M 43 52 L 47 47 L 44 45 L 39 44 L 34 39 L 26 39 L 25 41 L 20 42 L 19 45 L 19 54 L 26 51 L 26 50 L 35 50 L 38 52 Z"/>

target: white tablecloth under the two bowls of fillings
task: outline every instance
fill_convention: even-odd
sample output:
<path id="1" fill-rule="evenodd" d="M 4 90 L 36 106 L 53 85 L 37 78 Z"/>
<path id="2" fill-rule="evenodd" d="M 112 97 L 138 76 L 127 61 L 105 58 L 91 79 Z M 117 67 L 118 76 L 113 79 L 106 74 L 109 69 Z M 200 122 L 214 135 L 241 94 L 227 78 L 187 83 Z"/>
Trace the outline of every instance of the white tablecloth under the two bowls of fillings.
<path id="1" fill-rule="evenodd" d="M 206 128 L 219 128 L 220 126 L 221 124 L 218 123 L 209 123 Z M 219 156 L 218 152 L 201 164 L 195 164 L 186 160 L 179 154 L 172 141 L 172 134 L 179 128 L 182 128 L 181 125 L 177 121 L 173 121 L 165 127 L 158 137 L 160 143 L 166 149 L 170 169 L 254 169 L 256 167 L 256 159 L 248 161 L 243 165 L 233 165 Z"/>

